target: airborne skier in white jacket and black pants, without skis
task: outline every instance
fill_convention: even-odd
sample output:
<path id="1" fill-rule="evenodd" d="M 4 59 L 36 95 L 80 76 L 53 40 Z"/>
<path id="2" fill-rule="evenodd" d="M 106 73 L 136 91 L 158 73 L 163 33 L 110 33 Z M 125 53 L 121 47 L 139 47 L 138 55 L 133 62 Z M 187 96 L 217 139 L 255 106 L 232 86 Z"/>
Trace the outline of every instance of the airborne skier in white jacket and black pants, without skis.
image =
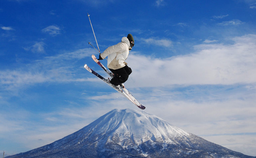
<path id="1" fill-rule="evenodd" d="M 125 60 L 128 57 L 129 51 L 134 45 L 134 39 L 131 34 L 123 37 L 122 41 L 116 45 L 108 47 L 103 53 L 100 53 L 98 60 L 103 60 L 108 56 L 108 68 L 114 73 L 114 77 L 110 83 L 118 86 L 128 80 L 131 74 L 131 68 L 127 66 Z"/>

